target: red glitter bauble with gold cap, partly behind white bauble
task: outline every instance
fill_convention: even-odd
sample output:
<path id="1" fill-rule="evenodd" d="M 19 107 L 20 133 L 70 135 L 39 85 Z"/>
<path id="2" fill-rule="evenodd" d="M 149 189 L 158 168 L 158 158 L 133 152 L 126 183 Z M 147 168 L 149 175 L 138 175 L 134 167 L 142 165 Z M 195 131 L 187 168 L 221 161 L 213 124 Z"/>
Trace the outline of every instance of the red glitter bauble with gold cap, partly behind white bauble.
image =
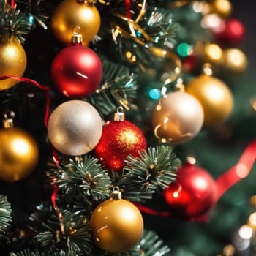
<path id="1" fill-rule="evenodd" d="M 102 137 L 94 148 L 94 155 L 108 170 L 120 171 L 124 160 L 131 154 L 139 157 L 138 151 L 146 149 L 143 132 L 129 121 L 124 120 L 124 113 L 116 113 L 113 121 L 108 121 L 102 130 Z"/>

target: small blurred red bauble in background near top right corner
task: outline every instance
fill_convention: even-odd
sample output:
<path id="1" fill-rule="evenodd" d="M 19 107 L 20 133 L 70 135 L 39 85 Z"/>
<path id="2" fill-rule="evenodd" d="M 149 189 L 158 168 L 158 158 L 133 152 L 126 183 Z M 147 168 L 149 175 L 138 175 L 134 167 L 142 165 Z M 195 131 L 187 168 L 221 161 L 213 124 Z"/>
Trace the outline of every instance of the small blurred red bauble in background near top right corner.
<path id="1" fill-rule="evenodd" d="M 245 29 L 240 20 L 230 18 L 221 23 L 220 26 L 211 29 L 211 32 L 217 42 L 237 46 L 244 39 Z"/>

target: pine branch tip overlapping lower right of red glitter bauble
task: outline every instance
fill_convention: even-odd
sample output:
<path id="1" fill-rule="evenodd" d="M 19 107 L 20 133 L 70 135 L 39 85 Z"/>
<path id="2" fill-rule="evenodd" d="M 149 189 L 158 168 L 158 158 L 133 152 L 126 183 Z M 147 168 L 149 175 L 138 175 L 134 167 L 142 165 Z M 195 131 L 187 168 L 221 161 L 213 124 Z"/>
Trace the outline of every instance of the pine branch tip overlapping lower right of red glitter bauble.
<path id="1" fill-rule="evenodd" d="M 157 189 L 166 189 L 176 179 L 176 170 L 181 161 L 168 146 L 157 146 L 141 151 L 140 157 L 127 157 L 124 176 L 118 181 L 123 197 L 143 201 Z"/>

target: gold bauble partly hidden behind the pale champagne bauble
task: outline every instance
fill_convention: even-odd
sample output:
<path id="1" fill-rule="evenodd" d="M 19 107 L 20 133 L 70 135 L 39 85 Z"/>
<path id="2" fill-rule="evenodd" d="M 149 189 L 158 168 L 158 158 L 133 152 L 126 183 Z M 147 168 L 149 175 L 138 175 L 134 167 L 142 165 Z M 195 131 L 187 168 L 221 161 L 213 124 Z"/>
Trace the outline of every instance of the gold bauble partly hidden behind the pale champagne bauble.
<path id="1" fill-rule="evenodd" d="M 233 110 L 233 94 L 227 84 L 210 75 L 199 75 L 186 86 L 203 106 L 204 125 L 215 126 L 225 121 Z"/>

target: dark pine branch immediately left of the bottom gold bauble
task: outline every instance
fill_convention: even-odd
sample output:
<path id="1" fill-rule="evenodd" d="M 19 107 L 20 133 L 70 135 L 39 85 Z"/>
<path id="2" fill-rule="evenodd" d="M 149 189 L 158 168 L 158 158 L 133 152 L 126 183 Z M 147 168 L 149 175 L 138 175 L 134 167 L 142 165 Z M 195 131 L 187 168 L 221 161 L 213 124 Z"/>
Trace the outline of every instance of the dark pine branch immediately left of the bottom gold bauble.
<path id="1" fill-rule="evenodd" d="M 63 214 L 61 221 L 63 225 L 54 214 L 48 222 L 42 223 L 45 231 L 36 236 L 42 251 L 60 252 L 66 249 L 90 255 L 92 246 L 89 220 L 80 214 L 71 214 L 67 211 Z"/>

